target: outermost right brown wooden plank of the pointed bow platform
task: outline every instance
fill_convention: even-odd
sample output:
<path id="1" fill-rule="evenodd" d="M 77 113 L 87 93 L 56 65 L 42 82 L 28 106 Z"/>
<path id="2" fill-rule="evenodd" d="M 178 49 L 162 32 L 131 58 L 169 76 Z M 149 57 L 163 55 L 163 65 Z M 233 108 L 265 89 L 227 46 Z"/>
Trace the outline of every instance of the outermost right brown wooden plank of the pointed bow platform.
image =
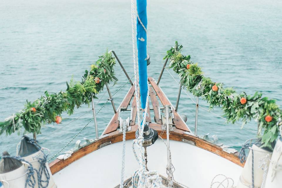
<path id="1" fill-rule="evenodd" d="M 158 97 L 160 98 L 160 101 L 163 105 L 171 105 L 173 108 L 174 113 L 174 120 L 173 123 L 175 124 L 175 127 L 177 129 L 181 129 L 184 131 L 191 132 L 190 129 L 187 127 L 186 123 L 181 119 L 180 115 L 174 110 L 173 105 L 168 100 L 167 96 L 163 93 L 162 89 L 157 85 L 155 80 L 153 78 L 148 78 L 150 84 L 154 88 L 155 92 L 157 93 Z"/>

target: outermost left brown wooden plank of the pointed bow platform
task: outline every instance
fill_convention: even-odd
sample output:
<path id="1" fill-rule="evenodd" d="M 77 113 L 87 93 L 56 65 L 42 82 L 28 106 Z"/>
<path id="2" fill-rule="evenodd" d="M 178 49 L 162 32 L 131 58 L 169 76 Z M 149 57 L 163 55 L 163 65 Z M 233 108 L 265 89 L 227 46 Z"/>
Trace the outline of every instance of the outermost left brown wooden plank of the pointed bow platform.
<path id="1" fill-rule="evenodd" d="M 128 90 L 127 94 L 125 95 L 125 98 L 122 100 L 120 106 L 118 107 L 117 113 L 115 113 L 113 115 L 109 124 L 105 128 L 103 135 L 117 130 L 118 125 L 119 125 L 119 120 L 117 119 L 118 118 L 118 111 L 119 111 L 119 109 L 126 109 L 128 107 L 130 100 L 132 99 L 132 96 L 134 95 L 134 92 L 135 92 L 135 86 L 132 85 L 131 88 Z"/>

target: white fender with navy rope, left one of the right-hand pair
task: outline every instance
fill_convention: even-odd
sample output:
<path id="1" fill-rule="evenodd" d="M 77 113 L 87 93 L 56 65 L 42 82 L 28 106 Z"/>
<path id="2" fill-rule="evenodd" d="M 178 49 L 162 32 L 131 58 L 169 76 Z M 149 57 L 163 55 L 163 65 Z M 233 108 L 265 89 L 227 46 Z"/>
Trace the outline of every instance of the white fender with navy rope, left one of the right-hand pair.
<path id="1" fill-rule="evenodd" d="M 263 181 L 263 169 L 259 168 L 259 160 L 261 157 L 266 157 L 266 155 L 271 155 L 271 152 L 265 150 L 255 144 L 253 144 L 252 149 L 254 151 L 254 187 L 261 187 Z M 269 160 L 267 162 L 267 166 Z M 242 174 L 237 184 L 237 188 L 249 188 L 252 186 L 252 151 L 250 150 L 247 157 L 245 166 L 243 168 Z"/>

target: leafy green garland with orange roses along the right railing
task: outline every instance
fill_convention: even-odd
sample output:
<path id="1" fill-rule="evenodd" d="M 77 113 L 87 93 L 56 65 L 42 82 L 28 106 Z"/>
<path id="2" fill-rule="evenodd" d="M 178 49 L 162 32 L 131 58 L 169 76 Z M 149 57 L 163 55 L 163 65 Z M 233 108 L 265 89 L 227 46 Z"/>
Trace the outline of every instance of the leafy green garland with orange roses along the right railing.
<path id="1" fill-rule="evenodd" d="M 241 120 L 242 127 L 247 121 L 254 118 L 258 122 L 258 133 L 263 147 L 271 147 L 277 139 L 279 126 L 282 126 L 282 111 L 275 100 L 262 98 L 262 93 L 256 92 L 253 96 L 245 92 L 239 94 L 233 88 L 224 88 L 223 83 L 214 83 L 203 75 L 201 67 L 190 61 L 190 56 L 181 54 L 182 45 L 175 46 L 167 51 L 164 59 L 169 58 L 169 68 L 179 75 L 180 82 L 194 96 L 206 100 L 210 109 L 219 106 L 224 111 L 227 122 L 235 123 Z M 262 131 L 263 135 L 261 136 Z"/>

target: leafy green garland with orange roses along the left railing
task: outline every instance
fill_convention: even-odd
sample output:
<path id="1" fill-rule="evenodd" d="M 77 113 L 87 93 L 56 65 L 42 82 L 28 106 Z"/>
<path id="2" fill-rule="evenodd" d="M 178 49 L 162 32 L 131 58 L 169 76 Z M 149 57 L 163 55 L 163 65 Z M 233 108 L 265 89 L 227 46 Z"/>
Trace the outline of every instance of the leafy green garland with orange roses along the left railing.
<path id="1" fill-rule="evenodd" d="M 25 132 L 40 134 L 44 124 L 56 122 L 61 123 L 61 114 L 65 111 L 69 115 L 73 114 L 75 107 L 79 108 L 82 104 L 88 104 L 92 98 L 103 90 L 104 85 L 116 82 L 113 66 L 115 58 L 112 53 L 107 51 L 99 56 L 99 59 L 91 65 L 90 71 L 85 70 L 81 82 L 75 82 L 73 78 L 70 84 L 67 83 L 66 92 L 49 94 L 45 91 L 45 96 L 36 99 L 33 103 L 26 100 L 23 110 L 0 122 L 0 135 L 6 132 L 11 135 L 13 132 L 20 134 L 23 126 Z"/>

